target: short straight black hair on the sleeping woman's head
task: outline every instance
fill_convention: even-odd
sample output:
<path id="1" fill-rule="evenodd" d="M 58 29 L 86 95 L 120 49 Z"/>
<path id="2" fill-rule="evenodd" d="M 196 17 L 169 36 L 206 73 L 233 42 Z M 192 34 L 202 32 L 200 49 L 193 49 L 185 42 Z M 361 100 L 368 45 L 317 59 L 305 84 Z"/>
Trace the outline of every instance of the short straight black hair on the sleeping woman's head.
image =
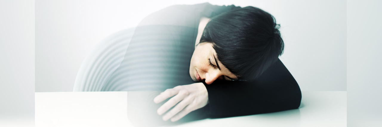
<path id="1" fill-rule="evenodd" d="M 253 6 L 212 17 L 200 42 L 211 42 L 217 59 L 241 80 L 258 78 L 283 54 L 275 18 Z"/>

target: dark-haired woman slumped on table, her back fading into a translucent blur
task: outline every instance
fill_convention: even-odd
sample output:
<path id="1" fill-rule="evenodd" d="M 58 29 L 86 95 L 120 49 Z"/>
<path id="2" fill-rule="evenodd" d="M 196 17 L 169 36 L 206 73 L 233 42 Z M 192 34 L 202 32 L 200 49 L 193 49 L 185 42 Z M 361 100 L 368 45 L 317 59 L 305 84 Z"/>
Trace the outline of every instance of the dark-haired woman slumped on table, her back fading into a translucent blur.
<path id="1" fill-rule="evenodd" d="M 296 109 L 301 90 L 278 59 L 279 27 L 252 6 L 164 8 L 135 28 L 121 64 L 97 89 L 129 91 L 129 120 L 142 126 Z"/>

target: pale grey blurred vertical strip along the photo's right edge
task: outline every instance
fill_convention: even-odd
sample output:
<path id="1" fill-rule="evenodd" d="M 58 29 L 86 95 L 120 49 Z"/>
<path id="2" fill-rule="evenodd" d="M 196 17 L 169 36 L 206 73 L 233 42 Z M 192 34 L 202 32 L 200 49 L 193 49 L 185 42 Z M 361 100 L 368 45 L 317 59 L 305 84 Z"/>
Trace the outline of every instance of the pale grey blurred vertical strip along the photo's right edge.
<path id="1" fill-rule="evenodd" d="M 348 127 L 382 124 L 381 0 L 348 0 Z"/>

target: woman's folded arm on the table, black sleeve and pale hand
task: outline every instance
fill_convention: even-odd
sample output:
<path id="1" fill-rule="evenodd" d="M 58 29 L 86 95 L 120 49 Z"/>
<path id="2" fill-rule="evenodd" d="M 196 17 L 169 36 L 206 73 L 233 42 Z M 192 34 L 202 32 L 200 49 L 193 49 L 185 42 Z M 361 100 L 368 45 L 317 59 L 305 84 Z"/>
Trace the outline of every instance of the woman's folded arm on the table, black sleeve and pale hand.
<path id="1" fill-rule="evenodd" d="M 175 96 L 174 96 L 175 95 Z M 174 97 L 173 97 L 174 96 Z M 207 96 L 207 97 L 206 97 Z M 216 80 L 207 85 L 194 83 L 167 89 L 155 97 L 159 103 L 172 97 L 158 110 L 163 120 L 177 121 L 204 106 L 209 117 L 232 117 L 296 109 L 301 90 L 280 60 L 253 81 Z M 209 105 L 207 105 L 209 103 Z M 201 110 L 206 111 L 206 110 Z"/>

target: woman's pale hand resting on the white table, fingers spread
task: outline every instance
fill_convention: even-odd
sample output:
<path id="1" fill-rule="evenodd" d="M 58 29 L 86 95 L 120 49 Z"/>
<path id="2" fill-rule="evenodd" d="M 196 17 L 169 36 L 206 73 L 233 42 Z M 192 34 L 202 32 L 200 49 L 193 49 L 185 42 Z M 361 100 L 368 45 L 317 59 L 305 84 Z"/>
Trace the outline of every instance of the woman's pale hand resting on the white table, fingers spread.
<path id="1" fill-rule="evenodd" d="M 186 116 L 186 114 L 202 108 L 208 103 L 208 92 L 203 83 L 176 86 L 172 89 L 167 89 L 155 97 L 154 102 L 160 103 L 170 97 L 172 98 L 157 110 L 157 113 L 162 115 L 175 106 L 172 110 L 163 115 L 163 121 L 167 121 L 170 118 L 172 122 L 178 121 Z"/>

